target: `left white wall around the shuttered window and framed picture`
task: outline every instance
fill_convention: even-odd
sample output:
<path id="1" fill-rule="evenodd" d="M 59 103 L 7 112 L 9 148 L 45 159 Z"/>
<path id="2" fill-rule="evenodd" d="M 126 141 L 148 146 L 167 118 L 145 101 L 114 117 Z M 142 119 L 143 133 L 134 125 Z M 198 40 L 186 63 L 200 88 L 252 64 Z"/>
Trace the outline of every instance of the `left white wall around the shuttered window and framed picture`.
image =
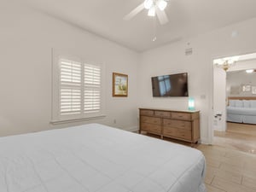
<path id="1" fill-rule="evenodd" d="M 0 25 L 0 136 L 88 123 L 49 124 L 51 48 L 105 63 L 107 117 L 97 122 L 137 126 L 136 52 L 11 0 L 1 2 Z M 127 98 L 112 97 L 113 72 L 129 75 Z"/>

